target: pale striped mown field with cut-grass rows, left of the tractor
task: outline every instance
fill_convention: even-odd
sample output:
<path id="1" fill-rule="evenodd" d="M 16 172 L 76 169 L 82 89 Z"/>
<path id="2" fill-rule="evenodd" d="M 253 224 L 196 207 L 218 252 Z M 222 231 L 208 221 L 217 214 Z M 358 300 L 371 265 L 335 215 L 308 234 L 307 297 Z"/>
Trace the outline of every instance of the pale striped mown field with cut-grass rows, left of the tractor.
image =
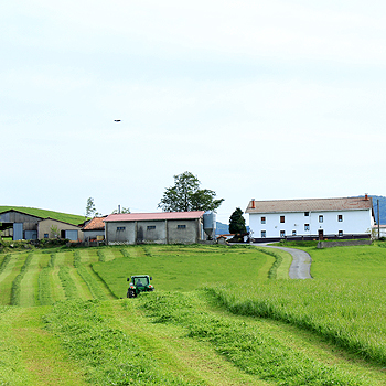
<path id="1" fill-rule="evenodd" d="M 115 299 L 92 269 L 98 259 L 97 251 L 89 249 L 4 255 L 0 262 L 0 304 L 33 307 L 65 299 Z"/>

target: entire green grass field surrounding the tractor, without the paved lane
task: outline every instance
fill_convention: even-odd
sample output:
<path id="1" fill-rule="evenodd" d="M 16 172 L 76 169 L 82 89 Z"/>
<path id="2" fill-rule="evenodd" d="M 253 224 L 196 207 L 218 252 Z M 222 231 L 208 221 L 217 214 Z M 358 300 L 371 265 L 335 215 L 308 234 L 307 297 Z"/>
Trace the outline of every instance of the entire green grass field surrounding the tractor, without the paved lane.
<path id="1" fill-rule="evenodd" d="M 385 246 L 4 250 L 0 385 L 386 385 Z"/>

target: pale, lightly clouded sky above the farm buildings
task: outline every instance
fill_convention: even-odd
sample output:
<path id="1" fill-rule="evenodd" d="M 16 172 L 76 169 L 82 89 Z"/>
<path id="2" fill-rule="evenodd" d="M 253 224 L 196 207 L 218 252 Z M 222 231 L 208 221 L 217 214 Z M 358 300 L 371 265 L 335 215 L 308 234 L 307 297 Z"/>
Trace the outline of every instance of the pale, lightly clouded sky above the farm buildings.
<path id="1" fill-rule="evenodd" d="M 3 1 L 0 205 L 386 195 L 385 46 L 379 0 Z"/>

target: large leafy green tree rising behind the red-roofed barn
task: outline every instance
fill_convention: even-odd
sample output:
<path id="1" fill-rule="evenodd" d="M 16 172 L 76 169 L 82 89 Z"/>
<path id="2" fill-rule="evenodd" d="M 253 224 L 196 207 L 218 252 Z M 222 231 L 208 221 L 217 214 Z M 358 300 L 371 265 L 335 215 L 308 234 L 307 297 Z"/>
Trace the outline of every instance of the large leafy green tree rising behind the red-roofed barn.
<path id="1" fill-rule="evenodd" d="M 200 180 L 191 172 L 174 175 L 174 186 L 168 187 L 158 204 L 164 212 L 216 211 L 224 199 L 216 192 L 199 189 Z"/>

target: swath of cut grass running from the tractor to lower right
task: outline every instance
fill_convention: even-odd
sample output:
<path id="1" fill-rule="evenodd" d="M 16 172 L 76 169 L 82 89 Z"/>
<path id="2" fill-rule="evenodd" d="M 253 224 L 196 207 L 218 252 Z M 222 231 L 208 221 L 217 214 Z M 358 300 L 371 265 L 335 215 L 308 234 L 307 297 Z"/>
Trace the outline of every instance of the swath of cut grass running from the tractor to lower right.
<path id="1" fill-rule="evenodd" d="M 362 385 L 334 366 L 320 364 L 285 346 L 256 326 L 203 309 L 194 293 L 162 293 L 138 299 L 156 323 L 175 323 L 192 339 L 210 342 L 216 352 L 248 374 L 278 385 Z"/>

